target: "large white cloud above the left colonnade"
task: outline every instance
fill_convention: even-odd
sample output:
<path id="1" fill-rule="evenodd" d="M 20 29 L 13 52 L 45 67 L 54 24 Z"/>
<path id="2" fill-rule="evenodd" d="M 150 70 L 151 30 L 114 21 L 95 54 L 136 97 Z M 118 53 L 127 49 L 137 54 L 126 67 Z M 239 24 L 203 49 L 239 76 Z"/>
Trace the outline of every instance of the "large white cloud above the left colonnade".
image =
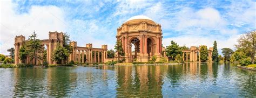
<path id="1" fill-rule="evenodd" d="M 11 1 L 1 2 L 1 37 L 0 53 L 9 54 L 6 50 L 14 47 L 15 36 L 28 38 L 36 31 L 39 39 L 48 39 L 49 31 L 65 31 L 63 11 L 57 6 L 31 6 L 28 13 L 18 14 L 17 4 Z"/>

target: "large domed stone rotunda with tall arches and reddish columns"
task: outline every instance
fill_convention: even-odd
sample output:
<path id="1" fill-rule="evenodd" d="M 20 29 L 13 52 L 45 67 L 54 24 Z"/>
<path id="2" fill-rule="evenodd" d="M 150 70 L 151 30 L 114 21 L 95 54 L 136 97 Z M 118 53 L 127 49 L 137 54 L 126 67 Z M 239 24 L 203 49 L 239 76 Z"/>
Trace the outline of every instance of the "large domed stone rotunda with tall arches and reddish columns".
<path id="1" fill-rule="evenodd" d="M 134 16 L 117 29 L 117 40 L 122 41 L 125 62 L 134 59 L 147 62 L 153 55 L 161 57 L 161 25 L 146 16 Z M 134 45 L 134 52 L 132 51 Z"/>

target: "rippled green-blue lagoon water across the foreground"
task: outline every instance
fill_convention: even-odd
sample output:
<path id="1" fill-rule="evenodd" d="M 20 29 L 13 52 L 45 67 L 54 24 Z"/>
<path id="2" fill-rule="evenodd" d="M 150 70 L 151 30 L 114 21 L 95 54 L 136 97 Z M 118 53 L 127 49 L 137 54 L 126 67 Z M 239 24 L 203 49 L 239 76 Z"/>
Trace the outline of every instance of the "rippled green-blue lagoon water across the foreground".
<path id="1" fill-rule="evenodd" d="M 255 97 L 255 78 L 217 63 L 1 68 L 0 97 Z"/>

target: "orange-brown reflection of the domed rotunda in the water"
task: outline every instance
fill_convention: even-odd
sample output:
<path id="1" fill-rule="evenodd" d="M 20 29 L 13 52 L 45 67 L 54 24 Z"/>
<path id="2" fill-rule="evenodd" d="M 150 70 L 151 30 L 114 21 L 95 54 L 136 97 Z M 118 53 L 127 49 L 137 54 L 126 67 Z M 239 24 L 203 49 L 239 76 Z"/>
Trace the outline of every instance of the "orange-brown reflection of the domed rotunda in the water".
<path id="1" fill-rule="evenodd" d="M 162 97 L 163 78 L 160 66 L 118 66 L 117 96 Z"/>

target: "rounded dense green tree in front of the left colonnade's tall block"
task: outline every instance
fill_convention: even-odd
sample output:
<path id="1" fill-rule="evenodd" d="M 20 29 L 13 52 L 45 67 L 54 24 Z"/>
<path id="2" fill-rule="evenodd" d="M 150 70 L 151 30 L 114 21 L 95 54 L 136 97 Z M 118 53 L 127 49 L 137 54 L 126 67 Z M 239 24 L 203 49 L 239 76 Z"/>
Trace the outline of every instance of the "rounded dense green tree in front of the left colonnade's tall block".
<path id="1" fill-rule="evenodd" d="M 69 58 L 69 51 L 57 44 L 56 49 L 52 52 L 52 60 L 60 64 L 62 60 L 66 60 L 67 58 Z"/>

